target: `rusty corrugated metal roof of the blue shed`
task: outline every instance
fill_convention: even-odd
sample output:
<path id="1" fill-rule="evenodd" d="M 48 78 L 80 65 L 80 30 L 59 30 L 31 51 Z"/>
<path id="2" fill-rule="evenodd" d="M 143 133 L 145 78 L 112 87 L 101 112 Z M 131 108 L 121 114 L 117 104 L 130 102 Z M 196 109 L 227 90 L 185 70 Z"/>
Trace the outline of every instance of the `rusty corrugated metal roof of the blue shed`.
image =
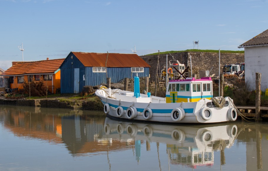
<path id="1" fill-rule="evenodd" d="M 72 52 L 85 67 L 150 67 L 137 54 Z"/>

